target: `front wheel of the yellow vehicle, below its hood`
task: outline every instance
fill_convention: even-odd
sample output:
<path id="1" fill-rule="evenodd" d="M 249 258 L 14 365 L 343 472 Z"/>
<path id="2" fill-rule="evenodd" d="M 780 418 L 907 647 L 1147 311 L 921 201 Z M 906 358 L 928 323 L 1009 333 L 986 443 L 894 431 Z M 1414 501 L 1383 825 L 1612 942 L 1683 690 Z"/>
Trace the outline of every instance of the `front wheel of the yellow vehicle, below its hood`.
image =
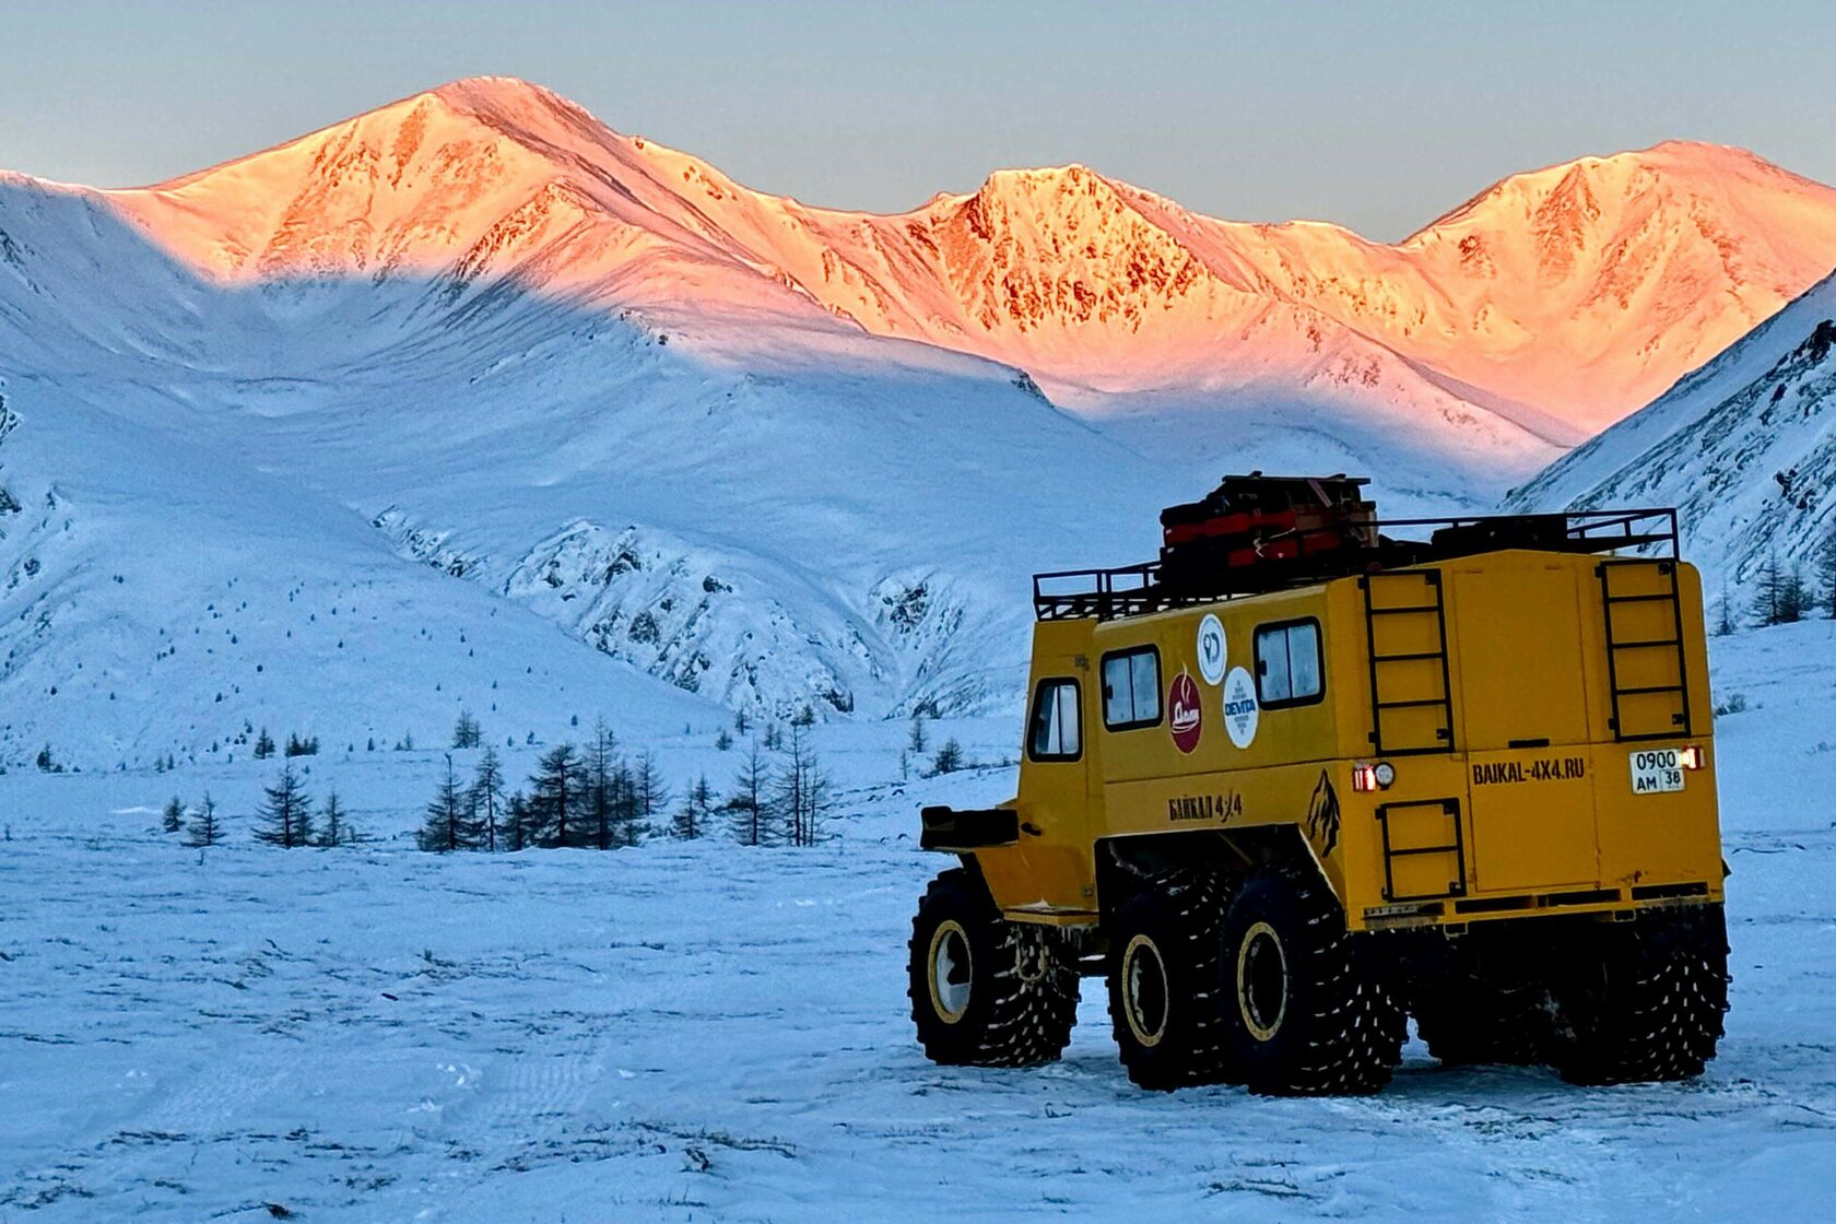
<path id="1" fill-rule="evenodd" d="M 949 1066 L 1052 1063 L 1078 1020 L 1078 960 L 1050 927 L 1001 918 L 980 875 L 951 868 L 912 918 L 912 1020 Z"/>

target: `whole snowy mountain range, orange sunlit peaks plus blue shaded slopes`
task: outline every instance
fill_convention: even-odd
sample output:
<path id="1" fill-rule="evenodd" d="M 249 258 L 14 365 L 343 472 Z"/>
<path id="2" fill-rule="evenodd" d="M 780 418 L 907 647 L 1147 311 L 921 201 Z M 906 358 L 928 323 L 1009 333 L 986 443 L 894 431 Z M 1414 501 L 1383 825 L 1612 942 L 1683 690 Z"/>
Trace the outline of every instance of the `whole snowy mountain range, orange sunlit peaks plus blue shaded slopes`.
<path id="1" fill-rule="evenodd" d="M 1223 470 L 1485 503 L 1832 262 L 1836 193 L 1702 145 L 1386 246 L 1083 167 L 817 209 L 507 79 L 158 187 L 0 174 L 0 758 L 1001 705 L 1030 571 Z"/>

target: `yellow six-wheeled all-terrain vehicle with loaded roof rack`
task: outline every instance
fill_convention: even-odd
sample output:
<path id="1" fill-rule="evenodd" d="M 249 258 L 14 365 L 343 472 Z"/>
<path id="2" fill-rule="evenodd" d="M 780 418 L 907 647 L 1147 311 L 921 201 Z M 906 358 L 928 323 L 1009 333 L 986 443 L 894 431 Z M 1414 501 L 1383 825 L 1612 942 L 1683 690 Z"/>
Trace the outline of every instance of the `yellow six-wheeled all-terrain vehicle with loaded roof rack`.
<path id="1" fill-rule="evenodd" d="M 1103 973 L 1129 1077 L 1682 1079 L 1728 1007 L 1702 587 L 1676 514 L 1379 523 L 1230 477 L 1160 560 L 1039 574 L 1019 795 L 927 807 L 918 1039 L 1026 1066 Z M 1394 536 L 1392 536 L 1394 532 Z"/>

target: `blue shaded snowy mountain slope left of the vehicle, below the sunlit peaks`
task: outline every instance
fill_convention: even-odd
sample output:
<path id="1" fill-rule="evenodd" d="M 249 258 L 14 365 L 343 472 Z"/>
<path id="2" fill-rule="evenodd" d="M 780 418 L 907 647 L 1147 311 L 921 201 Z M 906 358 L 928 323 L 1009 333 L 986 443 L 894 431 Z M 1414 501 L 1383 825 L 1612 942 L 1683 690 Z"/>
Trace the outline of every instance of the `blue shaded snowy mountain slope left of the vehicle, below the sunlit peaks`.
<path id="1" fill-rule="evenodd" d="M 1138 455 L 821 310 L 716 347 L 510 281 L 224 286 L 39 184 L 0 218 L 0 763 L 979 708 L 1032 567 L 1153 547 Z"/>

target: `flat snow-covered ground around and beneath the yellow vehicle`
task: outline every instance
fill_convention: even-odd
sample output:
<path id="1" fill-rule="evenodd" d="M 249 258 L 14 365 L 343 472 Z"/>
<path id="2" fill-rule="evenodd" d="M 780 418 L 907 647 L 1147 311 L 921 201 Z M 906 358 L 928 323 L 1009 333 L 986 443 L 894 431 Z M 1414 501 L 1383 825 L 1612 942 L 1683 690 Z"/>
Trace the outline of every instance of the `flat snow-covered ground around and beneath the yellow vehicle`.
<path id="1" fill-rule="evenodd" d="M 250 844 L 253 762 L 15 771 L 0 1220 L 1829 1218 L 1836 624 L 1713 651 L 1746 707 L 1718 723 L 1733 1011 L 1709 1072 L 1663 1086 L 1412 1044 L 1375 1099 L 1148 1096 L 1098 982 L 1063 1063 L 933 1066 L 905 934 L 947 862 L 914 809 L 1012 778 L 896 782 L 903 723 L 817 729 L 845 795 L 815 850 L 417 853 L 435 752 L 312 758 L 371 837 L 312 851 Z M 946 734 L 999 760 L 1013 729 Z M 655 749 L 677 789 L 736 765 Z M 231 833 L 200 853 L 156 824 L 206 787 Z"/>

